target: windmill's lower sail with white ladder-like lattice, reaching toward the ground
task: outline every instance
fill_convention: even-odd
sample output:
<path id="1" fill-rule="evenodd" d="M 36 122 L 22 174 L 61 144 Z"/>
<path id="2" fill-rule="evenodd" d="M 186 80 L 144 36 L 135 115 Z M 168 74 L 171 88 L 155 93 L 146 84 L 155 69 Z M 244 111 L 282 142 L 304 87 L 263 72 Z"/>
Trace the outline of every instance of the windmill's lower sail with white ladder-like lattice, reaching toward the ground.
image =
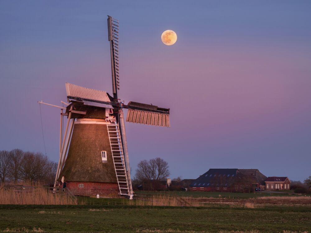
<path id="1" fill-rule="evenodd" d="M 114 170 L 116 171 L 117 181 L 119 185 L 120 191 L 119 194 L 130 196 L 119 126 L 117 124 L 107 125 L 107 128 L 110 140 L 112 159 L 114 161 Z"/>

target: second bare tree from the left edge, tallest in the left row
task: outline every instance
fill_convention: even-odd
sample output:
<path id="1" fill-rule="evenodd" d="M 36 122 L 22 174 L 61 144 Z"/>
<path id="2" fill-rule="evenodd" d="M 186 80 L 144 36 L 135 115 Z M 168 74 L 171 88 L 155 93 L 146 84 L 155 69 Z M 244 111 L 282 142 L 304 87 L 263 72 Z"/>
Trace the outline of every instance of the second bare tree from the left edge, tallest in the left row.
<path id="1" fill-rule="evenodd" d="M 23 161 L 24 152 L 21 149 L 14 149 L 10 152 L 10 163 L 8 176 L 14 183 L 21 178 L 21 163 Z"/>

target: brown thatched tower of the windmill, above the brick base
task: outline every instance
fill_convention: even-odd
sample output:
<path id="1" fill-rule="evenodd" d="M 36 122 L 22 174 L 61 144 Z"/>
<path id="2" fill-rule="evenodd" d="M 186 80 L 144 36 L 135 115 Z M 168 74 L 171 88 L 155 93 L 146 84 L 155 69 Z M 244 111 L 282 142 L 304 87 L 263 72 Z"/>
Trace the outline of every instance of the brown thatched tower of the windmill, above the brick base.
<path id="1" fill-rule="evenodd" d="M 107 152 L 107 163 L 101 151 Z M 75 124 L 68 156 L 58 180 L 117 183 L 107 125 Z"/>

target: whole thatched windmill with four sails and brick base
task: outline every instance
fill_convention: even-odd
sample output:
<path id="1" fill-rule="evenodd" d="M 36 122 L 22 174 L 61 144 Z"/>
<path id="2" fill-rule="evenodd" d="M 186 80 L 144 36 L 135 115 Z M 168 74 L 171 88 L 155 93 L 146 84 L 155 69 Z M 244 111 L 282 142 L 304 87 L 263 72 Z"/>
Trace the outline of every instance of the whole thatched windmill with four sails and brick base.
<path id="1" fill-rule="evenodd" d="M 121 102 L 118 30 L 118 20 L 108 16 L 113 95 L 66 83 L 69 104 L 52 105 L 61 108 L 60 156 L 54 187 L 65 184 L 75 195 L 119 194 L 132 199 L 123 108 L 128 109 L 128 122 L 169 127 L 169 108 Z M 67 116 L 64 133 L 63 116 Z"/>

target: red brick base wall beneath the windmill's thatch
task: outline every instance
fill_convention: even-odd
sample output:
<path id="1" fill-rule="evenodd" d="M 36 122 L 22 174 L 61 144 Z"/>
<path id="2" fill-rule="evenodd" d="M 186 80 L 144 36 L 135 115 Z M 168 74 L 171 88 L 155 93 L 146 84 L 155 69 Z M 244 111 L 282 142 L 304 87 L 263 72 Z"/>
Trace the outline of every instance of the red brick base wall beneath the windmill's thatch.
<path id="1" fill-rule="evenodd" d="M 79 184 L 83 184 L 83 188 L 79 188 Z M 67 181 L 66 187 L 74 195 L 79 196 L 96 196 L 100 197 L 119 197 L 119 187 L 116 183 L 100 183 L 100 182 L 74 182 Z"/>

